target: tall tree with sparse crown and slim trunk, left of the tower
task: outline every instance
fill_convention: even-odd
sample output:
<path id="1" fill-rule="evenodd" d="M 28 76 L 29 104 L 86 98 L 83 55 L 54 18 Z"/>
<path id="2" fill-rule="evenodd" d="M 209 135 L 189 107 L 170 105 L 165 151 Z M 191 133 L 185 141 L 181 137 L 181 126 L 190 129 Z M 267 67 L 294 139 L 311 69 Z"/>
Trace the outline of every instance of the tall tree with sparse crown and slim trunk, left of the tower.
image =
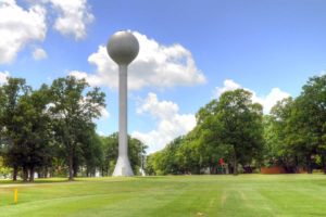
<path id="1" fill-rule="evenodd" d="M 100 116 L 104 104 L 104 93 L 99 88 L 87 91 L 85 79 L 73 76 L 59 78 L 52 82 L 52 104 L 49 108 L 54 124 L 58 141 L 65 150 L 68 165 L 68 180 L 74 177 L 74 157 L 80 150 L 80 140 L 84 129 L 93 126 L 93 118 Z M 83 94 L 86 92 L 85 94 Z"/>

